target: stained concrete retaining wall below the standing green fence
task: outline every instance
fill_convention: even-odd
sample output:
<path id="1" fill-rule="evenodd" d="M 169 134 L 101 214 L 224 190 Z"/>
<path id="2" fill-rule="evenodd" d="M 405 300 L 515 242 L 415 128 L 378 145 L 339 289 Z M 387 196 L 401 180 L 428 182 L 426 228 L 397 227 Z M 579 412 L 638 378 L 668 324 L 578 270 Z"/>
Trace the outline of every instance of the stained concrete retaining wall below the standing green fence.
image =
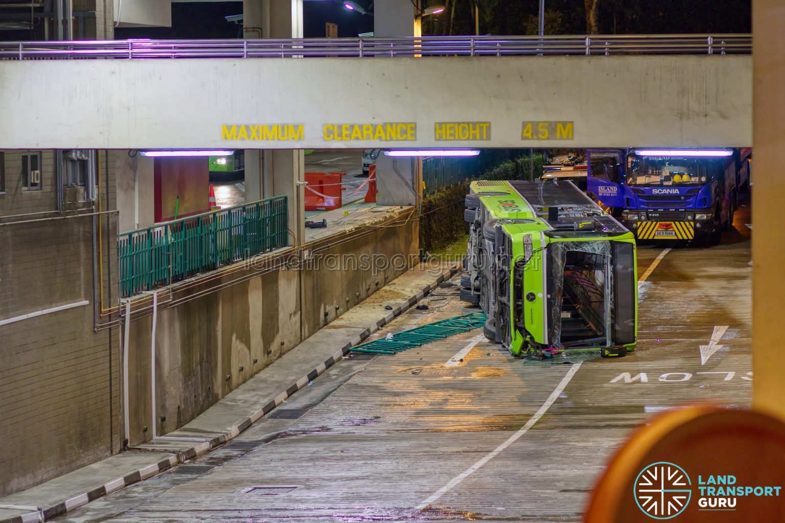
<path id="1" fill-rule="evenodd" d="M 155 336 L 157 434 L 188 423 L 411 267 L 418 253 L 418 221 L 405 220 L 411 212 L 308 245 L 301 268 L 266 270 L 259 263 L 199 285 L 181 284 L 171 296 L 162 292 Z M 130 325 L 130 445 L 153 436 L 152 316 L 142 307 Z"/>

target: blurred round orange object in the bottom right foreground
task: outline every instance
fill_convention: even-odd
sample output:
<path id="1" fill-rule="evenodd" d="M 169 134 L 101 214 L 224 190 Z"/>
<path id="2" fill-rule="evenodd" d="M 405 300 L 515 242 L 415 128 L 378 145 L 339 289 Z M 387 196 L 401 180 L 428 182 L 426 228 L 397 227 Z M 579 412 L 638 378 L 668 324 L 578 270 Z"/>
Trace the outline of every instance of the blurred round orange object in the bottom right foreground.
<path id="1" fill-rule="evenodd" d="M 594 489 L 584 521 L 656 520 L 785 521 L 785 423 L 754 410 L 696 406 L 633 433 Z"/>

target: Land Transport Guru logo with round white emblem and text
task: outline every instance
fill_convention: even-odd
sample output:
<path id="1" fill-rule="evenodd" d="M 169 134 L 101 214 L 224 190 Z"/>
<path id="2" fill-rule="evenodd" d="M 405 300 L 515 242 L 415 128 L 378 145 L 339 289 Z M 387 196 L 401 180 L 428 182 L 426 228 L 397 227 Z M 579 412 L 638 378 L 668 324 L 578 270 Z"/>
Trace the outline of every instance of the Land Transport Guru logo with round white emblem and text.
<path id="1" fill-rule="evenodd" d="M 781 486 L 739 485 L 732 474 L 698 476 L 698 510 L 736 510 L 739 497 L 780 496 Z M 635 503 L 654 519 L 681 514 L 692 499 L 692 481 L 675 463 L 659 461 L 644 467 L 633 485 Z"/>

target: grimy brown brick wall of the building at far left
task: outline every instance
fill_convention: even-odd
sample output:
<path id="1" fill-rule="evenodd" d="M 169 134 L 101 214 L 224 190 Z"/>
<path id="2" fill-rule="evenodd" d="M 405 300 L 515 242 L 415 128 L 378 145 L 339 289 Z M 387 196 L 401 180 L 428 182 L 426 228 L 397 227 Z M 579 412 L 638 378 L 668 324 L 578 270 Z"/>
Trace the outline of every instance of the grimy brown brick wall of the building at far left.
<path id="1" fill-rule="evenodd" d="M 58 215 L 54 152 L 42 151 L 42 191 L 22 190 L 22 151 L 3 153 L 0 222 L 28 221 L 0 225 L 0 322 L 88 303 L 0 325 L 0 497 L 122 445 L 120 329 L 103 328 L 116 319 L 111 311 L 96 322 L 100 300 L 93 283 L 93 234 L 100 223 L 104 308 L 117 305 L 117 216 Z M 102 151 L 102 210 L 116 205 L 114 162 L 108 159 Z M 46 213 L 18 216 L 24 212 Z M 29 221 L 49 217 L 58 219 Z"/>

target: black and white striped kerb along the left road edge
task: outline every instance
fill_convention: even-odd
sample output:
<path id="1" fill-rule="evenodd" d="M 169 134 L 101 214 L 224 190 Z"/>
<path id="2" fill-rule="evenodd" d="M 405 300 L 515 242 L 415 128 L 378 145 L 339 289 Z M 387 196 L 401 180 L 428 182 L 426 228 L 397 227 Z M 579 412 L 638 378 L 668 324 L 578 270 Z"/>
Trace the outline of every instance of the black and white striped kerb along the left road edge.
<path id="1" fill-rule="evenodd" d="M 147 467 L 143 467 L 139 470 L 134 471 L 132 474 L 128 474 L 123 476 L 122 478 L 116 478 L 112 481 L 109 481 L 106 485 L 101 485 L 98 488 L 94 488 L 90 492 L 85 492 L 83 494 L 79 494 L 79 496 L 74 496 L 70 499 L 66 499 L 63 503 L 58 503 L 53 507 L 46 507 L 46 508 L 39 508 L 37 511 L 31 511 L 28 514 L 24 514 L 21 516 L 15 516 L 13 518 L 6 518 L 0 520 L 0 523 L 40 523 L 41 521 L 46 521 L 52 518 L 57 518 L 62 514 L 70 512 L 76 508 L 82 507 L 87 503 L 93 501 L 93 499 L 100 498 L 101 496 L 106 496 L 107 494 L 111 494 L 112 492 L 117 492 L 121 488 L 125 488 L 128 485 L 133 485 L 137 481 L 142 481 L 147 478 L 152 478 L 155 474 L 159 474 L 159 472 L 163 472 L 164 470 L 168 470 L 175 465 L 183 463 L 188 459 L 193 459 L 196 456 L 201 456 L 205 452 L 215 449 L 216 447 L 220 447 L 224 445 L 227 441 L 230 441 L 234 438 L 237 438 L 240 433 L 244 430 L 248 429 L 251 425 L 259 421 L 262 417 L 266 416 L 273 409 L 275 409 L 278 405 L 282 404 L 283 401 L 286 401 L 292 394 L 300 390 L 302 387 L 308 385 L 309 382 L 316 379 L 317 376 L 322 374 L 324 371 L 329 369 L 332 365 L 336 362 L 341 361 L 346 354 L 349 354 L 349 349 L 354 347 L 355 345 L 362 343 L 368 336 L 371 336 L 374 332 L 377 332 L 379 329 L 382 329 L 384 325 L 387 325 L 392 319 L 397 318 L 403 312 L 407 311 L 414 303 L 417 303 L 419 300 L 422 300 L 426 294 L 431 292 L 433 289 L 439 286 L 442 281 L 452 278 L 458 272 L 458 268 L 460 264 L 455 265 L 454 267 L 450 267 L 447 272 L 440 274 L 436 281 L 431 282 L 429 285 L 425 285 L 422 290 L 418 291 L 414 296 L 410 296 L 406 303 L 395 307 L 392 311 L 389 311 L 384 318 L 380 319 L 376 322 L 376 325 L 372 326 L 370 329 L 365 329 L 363 332 L 360 332 L 355 338 L 346 343 L 343 347 L 339 350 L 336 350 L 335 353 L 327 358 L 324 363 L 319 364 L 316 369 L 313 369 L 307 375 L 302 376 L 299 380 L 293 383 L 287 390 L 284 390 L 281 394 L 278 394 L 275 398 L 272 399 L 267 405 L 262 407 L 261 409 L 257 410 L 249 417 L 243 420 L 243 423 L 240 423 L 237 427 L 232 428 L 228 433 L 221 434 L 217 438 L 213 438 L 210 441 L 204 441 L 203 443 L 199 443 L 199 445 L 195 445 L 190 449 L 186 449 L 182 452 L 177 452 L 176 455 L 171 456 L 168 459 L 162 459 L 158 463 L 152 463 Z"/>

